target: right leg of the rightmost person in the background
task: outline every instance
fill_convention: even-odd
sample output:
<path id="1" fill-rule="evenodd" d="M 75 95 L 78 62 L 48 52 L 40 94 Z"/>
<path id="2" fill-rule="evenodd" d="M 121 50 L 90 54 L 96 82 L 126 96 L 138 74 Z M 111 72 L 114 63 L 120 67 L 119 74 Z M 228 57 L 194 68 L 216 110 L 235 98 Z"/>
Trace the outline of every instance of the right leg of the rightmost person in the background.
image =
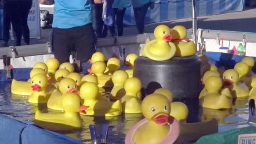
<path id="1" fill-rule="evenodd" d="M 139 34 L 144 33 L 145 17 L 146 17 L 148 8 L 149 8 L 149 4 L 150 4 L 150 3 L 144 4 L 144 5 L 139 9 L 139 12 L 138 12 L 138 21 L 139 21 L 139 22 L 138 22 L 138 32 L 139 32 Z"/>

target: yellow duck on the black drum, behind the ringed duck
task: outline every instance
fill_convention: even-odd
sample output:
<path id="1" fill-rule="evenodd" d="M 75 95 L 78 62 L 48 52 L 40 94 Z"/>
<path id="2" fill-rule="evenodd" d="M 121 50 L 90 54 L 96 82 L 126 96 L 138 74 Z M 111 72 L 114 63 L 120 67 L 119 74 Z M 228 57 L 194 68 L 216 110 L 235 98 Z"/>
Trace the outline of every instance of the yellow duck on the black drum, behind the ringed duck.
<path id="1" fill-rule="evenodd" d="M 186 40 L 187 37 L 187 29 L 183 26 L 175 26 L 172 28 L 171 31 L 172 39 L 174 40 L 173 43 L 176 46 L 176 53 L 175 56 L 193 56 L 197 52 L 195 43 L 190 40 Z"/>

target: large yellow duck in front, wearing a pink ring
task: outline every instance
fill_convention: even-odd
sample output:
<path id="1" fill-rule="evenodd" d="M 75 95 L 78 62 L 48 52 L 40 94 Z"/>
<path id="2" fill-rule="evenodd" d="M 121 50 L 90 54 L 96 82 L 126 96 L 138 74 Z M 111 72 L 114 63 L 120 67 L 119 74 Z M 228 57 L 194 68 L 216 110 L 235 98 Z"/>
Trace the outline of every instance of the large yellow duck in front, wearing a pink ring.
<path id="1" fill-rule="evenodd" d="M 174 143 L 179 136 L 179 122 L 169 116 L 170 101 L 162 94 L 150 94 L 141 105 L 144 119 L 125 137 L 125 143 Z M 157 133 L 156 133 L 157 131 Z"/>

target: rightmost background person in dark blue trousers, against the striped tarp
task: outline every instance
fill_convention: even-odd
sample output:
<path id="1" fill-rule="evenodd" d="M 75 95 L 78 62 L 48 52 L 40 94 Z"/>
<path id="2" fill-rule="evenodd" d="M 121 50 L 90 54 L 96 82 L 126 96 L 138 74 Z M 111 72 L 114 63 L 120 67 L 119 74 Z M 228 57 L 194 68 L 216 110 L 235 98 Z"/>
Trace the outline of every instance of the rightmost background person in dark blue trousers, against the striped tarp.
<path id="1" fill-rule="evenodd" d="M 134 12 L 138 33 L 142 34 L 144 33 L 145 17 L 148 11 L 148 7 L 150 7 L 150 9 L 154 9 L 155 0 L 131 0 L 131 5 Z"/>

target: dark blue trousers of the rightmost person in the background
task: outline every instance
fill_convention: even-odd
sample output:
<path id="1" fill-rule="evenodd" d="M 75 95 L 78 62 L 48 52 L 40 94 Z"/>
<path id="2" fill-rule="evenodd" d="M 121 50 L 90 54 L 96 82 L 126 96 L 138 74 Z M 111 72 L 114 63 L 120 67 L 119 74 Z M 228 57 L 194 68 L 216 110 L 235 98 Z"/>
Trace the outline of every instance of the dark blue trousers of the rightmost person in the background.
<path id="1" fill-rule="evenodd" d="M 145 27 L 145 17 L 148 11 L 150 3 L 142 5 L 142 7 L 139 8 L 133 8 L 136 27 L 138 29 L 139 34 L 144 33 L 144 27 Z"/>

